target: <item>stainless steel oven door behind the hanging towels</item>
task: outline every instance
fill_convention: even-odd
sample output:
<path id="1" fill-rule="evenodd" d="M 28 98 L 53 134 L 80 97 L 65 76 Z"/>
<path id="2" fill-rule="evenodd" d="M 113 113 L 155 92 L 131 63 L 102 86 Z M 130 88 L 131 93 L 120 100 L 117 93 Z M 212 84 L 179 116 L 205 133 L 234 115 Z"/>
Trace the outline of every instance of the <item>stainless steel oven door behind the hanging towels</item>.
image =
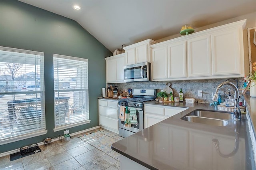
<path id="1" fill-rule="evenodd" d="M 128 107 L 130 109 L 132 107 Z M 120 114 L 120 106 L 118 106 L 118 116 Z M 136 124 L 131 124 L 131 127 L 124 127 L 124 121 L 122 121 L 120 118 L 118 119 L 119 124 L 119 130 L 128 130 L 130 132 L 139 132 L 140 130 L 144 129 L 144 120 L 143 120 L 143 109 L 142 108 L 136 108 L 136 115 L 137 115 L 137 121 Z"/>

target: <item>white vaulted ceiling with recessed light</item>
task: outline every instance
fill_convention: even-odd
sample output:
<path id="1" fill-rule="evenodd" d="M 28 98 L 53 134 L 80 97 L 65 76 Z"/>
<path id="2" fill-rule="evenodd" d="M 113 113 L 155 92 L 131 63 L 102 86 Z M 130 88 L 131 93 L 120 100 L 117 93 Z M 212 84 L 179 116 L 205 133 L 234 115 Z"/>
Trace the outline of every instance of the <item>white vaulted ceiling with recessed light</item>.
<path id="1" fill-rule="evenodd" d="M 78 22 L 110 51 L 256 12 L 256 0 L 19 0 Z M 80 10 L 72 6 L 77 4 Z"/>

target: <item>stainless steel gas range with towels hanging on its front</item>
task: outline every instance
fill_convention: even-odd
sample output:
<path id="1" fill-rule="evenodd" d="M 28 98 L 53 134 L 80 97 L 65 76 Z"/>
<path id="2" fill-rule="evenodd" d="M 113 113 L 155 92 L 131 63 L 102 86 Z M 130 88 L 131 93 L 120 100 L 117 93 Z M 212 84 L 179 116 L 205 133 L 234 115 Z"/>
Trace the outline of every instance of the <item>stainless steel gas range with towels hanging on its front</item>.
<path id="1" fill-rule="evenodd" d="M 128 137 L 142 129 L 144 129 L 143 102 L 156 99 L 156 89 L 133 89 L 132 98 L 118 100 L 118 115 L 120 115 L 120 106 L 128 107 L 128 109 L 136 108 L 136 116 L 138 123 L 131 124 L 131 127 L 125 127 L 124 121 L 118 119 L 119 135 Z"/>

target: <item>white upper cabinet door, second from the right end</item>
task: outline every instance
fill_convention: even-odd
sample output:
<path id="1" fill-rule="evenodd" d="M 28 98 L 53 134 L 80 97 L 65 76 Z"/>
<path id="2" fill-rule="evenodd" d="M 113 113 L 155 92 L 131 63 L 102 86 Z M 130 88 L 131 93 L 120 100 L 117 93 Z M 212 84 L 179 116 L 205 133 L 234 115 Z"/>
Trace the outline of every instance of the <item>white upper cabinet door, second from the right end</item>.
<path id="1" fill-rule="evenodd" d="M 188 77 L 212 75 L 210 36 L 188 40 Z"/>

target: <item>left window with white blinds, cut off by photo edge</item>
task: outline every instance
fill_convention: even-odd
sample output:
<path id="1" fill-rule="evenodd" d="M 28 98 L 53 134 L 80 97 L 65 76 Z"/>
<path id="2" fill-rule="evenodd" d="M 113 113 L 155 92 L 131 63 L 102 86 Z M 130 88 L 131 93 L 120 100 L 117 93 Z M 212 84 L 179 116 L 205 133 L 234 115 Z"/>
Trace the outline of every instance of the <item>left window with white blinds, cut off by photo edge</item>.
<path id="1" fill-rule="evenodd" d="M 46 132 L 44 53 L 0 47 L 0 144 Z"/>

